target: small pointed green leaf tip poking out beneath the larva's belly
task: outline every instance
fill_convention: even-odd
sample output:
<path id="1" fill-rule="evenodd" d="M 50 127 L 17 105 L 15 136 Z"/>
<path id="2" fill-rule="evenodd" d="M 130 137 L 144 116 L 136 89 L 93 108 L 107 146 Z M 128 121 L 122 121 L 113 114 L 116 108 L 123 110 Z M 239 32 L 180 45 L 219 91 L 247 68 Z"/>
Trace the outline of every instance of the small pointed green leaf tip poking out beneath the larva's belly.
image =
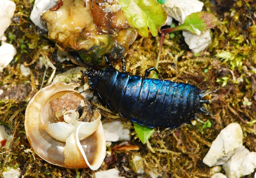
<path id="1" fill-rule="evenodd" d="M 145 144 L 150 136 L 155 132 L 154 128 L 139 125 L 138 123 L 134 123 L 134 129 L 143 144 Z"/>

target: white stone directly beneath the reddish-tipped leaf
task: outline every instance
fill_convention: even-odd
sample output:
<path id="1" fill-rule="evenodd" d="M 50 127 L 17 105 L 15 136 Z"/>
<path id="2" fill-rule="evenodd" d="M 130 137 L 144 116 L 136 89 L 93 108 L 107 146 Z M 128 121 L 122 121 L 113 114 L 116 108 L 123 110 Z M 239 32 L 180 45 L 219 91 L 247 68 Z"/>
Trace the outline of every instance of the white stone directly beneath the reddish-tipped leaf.
<path id="1" fill-rule="evenodd" d="M 190 32 L 183 31 L 182 35 L 184 36 L 186 44 L 188 44 L 189 49 L 193 53 L 198 53 L 203 51 L 208 45 L 211 44 L 211 35 L 210 30 L 207 30 L 201 35 L 193 35 Z"/>

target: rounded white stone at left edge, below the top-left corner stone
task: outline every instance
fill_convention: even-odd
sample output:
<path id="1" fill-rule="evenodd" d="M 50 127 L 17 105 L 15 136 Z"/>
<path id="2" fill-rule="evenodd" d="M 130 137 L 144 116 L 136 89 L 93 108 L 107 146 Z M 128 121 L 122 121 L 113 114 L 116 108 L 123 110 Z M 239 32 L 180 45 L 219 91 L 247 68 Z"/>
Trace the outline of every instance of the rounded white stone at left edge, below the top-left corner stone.
<path id="1" fill-rule="evenodd" d="M 12 44 L 5 43 L 0 46 L 0 72 L 12 61 L 16 53 L 17 51 Z"/>

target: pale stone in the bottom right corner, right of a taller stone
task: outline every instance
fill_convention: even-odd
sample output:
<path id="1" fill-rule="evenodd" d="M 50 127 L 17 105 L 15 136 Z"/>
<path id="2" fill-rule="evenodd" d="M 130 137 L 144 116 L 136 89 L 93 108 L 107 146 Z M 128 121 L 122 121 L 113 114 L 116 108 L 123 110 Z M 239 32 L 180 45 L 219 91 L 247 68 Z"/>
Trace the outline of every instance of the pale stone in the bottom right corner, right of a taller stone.
<path id="1" fill-rule="evenodd" d="M 256 152 L 250 152 L 242 146 L 222 166 L 228 178 L 240 178 L 251 174 L 256 168 Z"/>

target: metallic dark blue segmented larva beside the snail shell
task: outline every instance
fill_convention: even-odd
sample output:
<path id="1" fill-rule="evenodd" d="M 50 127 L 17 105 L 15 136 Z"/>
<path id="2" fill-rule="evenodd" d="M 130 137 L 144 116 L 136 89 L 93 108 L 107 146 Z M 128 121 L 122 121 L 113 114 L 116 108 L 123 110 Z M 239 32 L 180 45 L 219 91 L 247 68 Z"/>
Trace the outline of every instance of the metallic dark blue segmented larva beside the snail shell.
<path id="1" fill-rule="evenodd" d="M 88 77 L 90 88 L 113 111 L 148 127 L 179 127 L 202 111 L 200 89 L 195 85 L 145 78 L 114 68 L 81 71 L 82 83 Z"/>

